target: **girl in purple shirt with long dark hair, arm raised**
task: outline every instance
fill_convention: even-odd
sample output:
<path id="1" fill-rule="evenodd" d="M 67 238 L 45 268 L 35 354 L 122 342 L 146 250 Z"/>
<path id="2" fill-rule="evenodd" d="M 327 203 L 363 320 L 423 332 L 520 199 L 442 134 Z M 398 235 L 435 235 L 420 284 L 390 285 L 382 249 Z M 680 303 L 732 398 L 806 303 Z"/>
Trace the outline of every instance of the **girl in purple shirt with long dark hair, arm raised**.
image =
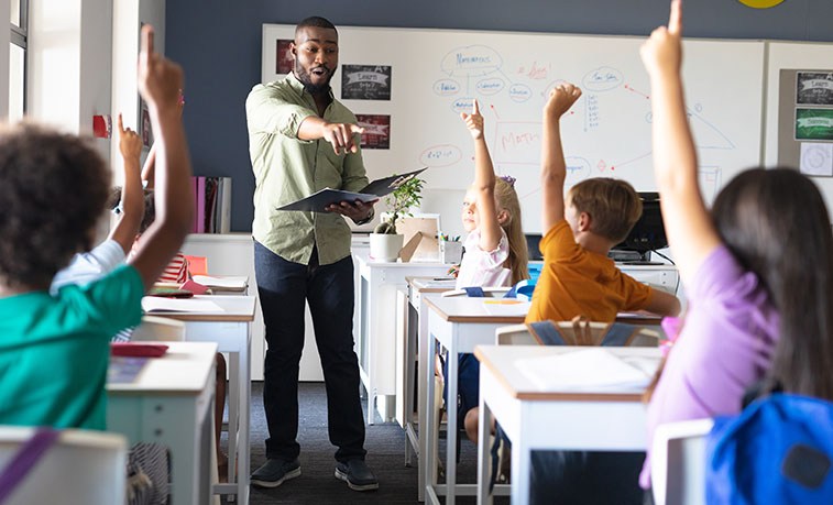
<path id="1" fill-rule="evenodd" d="M 833 234 L 824 200 L 797 169 L 753 168 L 706 210 L 680 77 L 681 9 L 673 1 L 668 28 L 640 50 L 662 219 L 690 298 L 648 405 L 649 448 L 662 422 L 739 413 L 750 386 L 833 399 Z M 648 460 L 639 483 L 651 485 Z"/>

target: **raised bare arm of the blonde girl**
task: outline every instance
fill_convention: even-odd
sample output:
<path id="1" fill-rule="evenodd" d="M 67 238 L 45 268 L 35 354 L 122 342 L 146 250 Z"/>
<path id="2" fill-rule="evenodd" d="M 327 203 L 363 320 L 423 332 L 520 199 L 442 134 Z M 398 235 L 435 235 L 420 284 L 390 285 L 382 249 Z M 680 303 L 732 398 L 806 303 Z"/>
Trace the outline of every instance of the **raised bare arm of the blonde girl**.
<path id="1" fill-rule="evenodd" d="M 494 200 L 494 167 L 489 155 L 486 140 L 483 136 L 483 116 L 478 100 L 474 100 L 470 114 L 460 112 L 472 139 L 474 139 L 474 188 L 478 191 L 476 211 L 480 217 L 480 249 L 494 251 L 501 243 L 501 223 Z"/>

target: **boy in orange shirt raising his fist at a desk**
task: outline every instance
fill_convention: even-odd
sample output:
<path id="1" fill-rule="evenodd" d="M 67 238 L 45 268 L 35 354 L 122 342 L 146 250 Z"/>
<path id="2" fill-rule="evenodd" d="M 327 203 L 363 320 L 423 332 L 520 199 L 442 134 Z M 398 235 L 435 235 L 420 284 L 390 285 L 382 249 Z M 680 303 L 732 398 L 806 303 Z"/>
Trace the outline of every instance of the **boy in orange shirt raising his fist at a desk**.
<path id="1" fill-rule="evenodd" d="M 541 224 L 547 232 L 540 241 L 544 267 L 526 321 L 562 321 L 583 315 L 613 322 L 620 311 L 643 309 L 676 316 L 680 303 L 675 296 L 623 274 L 607 257 L 642 213 L 634 188 L 624 180 L 590 178 L 563 196 L 567 167 L 560 118 L 579 97 L 578 87 L 561 85 L 550 92 L 544 108 Z M 467 428 L 476 432 L 476 422 L 467 420 Z M 562 503 L 605 503 L 605 496 L 615 496 L 617 503 L 638 503 L 642 493 L 636 477 L 642 460 L 642 452 L 536 451 L 531 503 L 550 503 L 552 496 Z"/>

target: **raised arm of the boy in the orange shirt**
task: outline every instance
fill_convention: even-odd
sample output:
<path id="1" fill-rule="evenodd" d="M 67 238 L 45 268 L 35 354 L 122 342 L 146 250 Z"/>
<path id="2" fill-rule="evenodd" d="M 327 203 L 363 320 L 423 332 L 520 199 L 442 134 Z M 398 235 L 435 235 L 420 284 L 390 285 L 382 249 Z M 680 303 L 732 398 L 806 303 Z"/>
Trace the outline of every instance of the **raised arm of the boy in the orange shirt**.
<path id="1" fill-rule="evenodd" d="M 581 97 L 581 89 L 566 84 L 549 92 L 549 100 L 544 106 L 544 127 L 541 139 L 541 226 L 544 234 L 558 221 L 565 219 L 565 179 L 567 165 L 561 147 L 560 119 Z"/>

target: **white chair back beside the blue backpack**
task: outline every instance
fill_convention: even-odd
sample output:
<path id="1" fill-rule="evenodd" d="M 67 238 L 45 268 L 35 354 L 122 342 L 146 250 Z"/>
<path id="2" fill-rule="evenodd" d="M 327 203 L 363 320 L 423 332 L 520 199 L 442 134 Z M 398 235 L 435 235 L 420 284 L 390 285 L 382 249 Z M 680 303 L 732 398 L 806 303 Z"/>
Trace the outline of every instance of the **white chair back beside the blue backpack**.
<path id="1" fill-rule="evenodd" d="M 705 435 L 712 419 L 667 422 L 654 430 L 650 474 L 656 505 L 705 503 Z"/>

